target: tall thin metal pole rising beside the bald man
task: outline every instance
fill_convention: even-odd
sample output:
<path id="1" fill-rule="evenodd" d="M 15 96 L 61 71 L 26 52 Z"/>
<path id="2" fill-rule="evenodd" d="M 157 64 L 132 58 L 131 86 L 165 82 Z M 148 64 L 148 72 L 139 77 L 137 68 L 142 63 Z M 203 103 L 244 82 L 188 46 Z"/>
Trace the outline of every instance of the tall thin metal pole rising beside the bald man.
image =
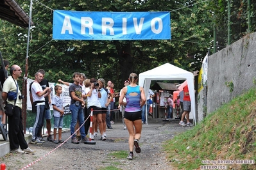
<path id="1" fill-rule="evenodd" d="M 25 78 L 23 79 L 22 89 L 24 94 L 24 99 L 22 100 L 22 119 L 24 134 L 26 134 L 26 110 L 27 110 L 27 77 L 28 77 L 28 49 L 30 47 L 30 27 L 31 27 L 31 16 L 32 16 L 32 4 L 33 1 L 30 0 L 30 20 L 28 21 L 28 41 L 27 41 L 27 53 L 26 53 L 26 66 L 25 66 Z"/>

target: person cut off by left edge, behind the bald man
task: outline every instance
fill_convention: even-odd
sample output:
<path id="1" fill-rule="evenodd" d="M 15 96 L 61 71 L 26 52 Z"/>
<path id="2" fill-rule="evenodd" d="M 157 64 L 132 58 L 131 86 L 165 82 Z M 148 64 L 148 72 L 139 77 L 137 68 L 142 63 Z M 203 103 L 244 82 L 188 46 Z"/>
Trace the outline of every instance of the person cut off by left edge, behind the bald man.
<path id="1" fill-rule="evenodd" d="M 4 66 L 1 66 L 0 68 L 0 81 L 1 81 L 1 87 L 3 88 L 3 85 L 4 85 L 4 81 L 7 79 L 8 77 L 8 67 L 10 65 L 10 62 L 6 59 L 3 60 L 4 61 Z M 4 73 L 5 72 L 5 73 Z M 2 88 L 0 88 L 0 115 L 3 115 L 2 117 L 2 120 L 3 121 L 3 125 L 5 125 L 6 123 L 6 118 L 5 118 L 5 114 L 4 114 L 4 101 L 3 101 L 3 98 L 2 98 Z M 1 123 L 1 122 L 0 122 Z"/>

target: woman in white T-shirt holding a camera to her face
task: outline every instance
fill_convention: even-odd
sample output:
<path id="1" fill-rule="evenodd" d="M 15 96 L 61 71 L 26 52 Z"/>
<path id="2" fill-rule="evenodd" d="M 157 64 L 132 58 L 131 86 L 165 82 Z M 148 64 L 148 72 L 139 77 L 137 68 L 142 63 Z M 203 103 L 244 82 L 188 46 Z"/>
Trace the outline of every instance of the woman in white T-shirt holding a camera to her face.
<path id="1" fill-rule="evenodd" d="M 90 139 L 94 140 L 94 127 L 95 123 L 99 125 L 99 132 L 101 136 L 103 135 L 103 123 L 102 123 L 102 114 L 101 114 L 101 103 L 99 98 L 101 98 L 101 93 L 99 92 L 99 83 L 96 79 L 90 79 L 90 90 L 87 93 L 87 112 L 90 112 L 93 109 L 93 119 L 92 119 L 92 132 L 90 134 Z"/>

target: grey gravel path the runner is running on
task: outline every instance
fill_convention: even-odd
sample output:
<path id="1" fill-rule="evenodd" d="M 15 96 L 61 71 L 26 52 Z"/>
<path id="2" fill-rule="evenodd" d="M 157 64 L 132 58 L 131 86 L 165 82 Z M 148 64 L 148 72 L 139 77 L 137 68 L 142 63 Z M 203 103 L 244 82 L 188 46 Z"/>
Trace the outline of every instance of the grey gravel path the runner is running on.
<path id="1" fill-rule="evenodd" d="M 27 169 L 101 169 L 108 166 L 119 169 L 172 169 L 166 160 L 166 153 L 162 150 L 162 142 L 189 129 L 181 127 L 177 121 L 159 121 L 143 125 L 139 141 L 141 153 L 134 151 L 135 158 L 127 160 L 109 154 L 121 150 L 128 153 L 128 131 L 123 130 L 121 123 L 115 123 L 112 127 L 112 130 L 107 130 L 107 140 L 100 141 L 99 137 L 96 137 L 95 145 L 72 144 L 69 139 L 54 150 L 58 144 L 46 141 L 42 145 L 30 144 L 30 148 L 37 151 L 35 155 L 10 153 L 1 157 L 0 162 L 6 164 L 6 169 L 21 169 L 32 162 L 35 164 Z M 70 132 L 63 133 L 63 139 L 67 139 L 69 135 Z"/>

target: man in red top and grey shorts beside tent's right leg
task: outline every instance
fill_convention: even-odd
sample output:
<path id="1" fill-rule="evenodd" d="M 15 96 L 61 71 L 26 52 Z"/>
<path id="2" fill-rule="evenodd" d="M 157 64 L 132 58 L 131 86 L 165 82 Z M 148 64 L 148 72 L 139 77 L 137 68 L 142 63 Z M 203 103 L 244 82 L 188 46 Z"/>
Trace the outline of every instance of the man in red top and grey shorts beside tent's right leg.
<path id="1" fill-rule="evenodd" d="M 183 127 L 185 127 L 185 126 L 190 127 L 190 126 L 192 126 L 192 123 L 189 122 L 189 112 L 191 111 L 191 99 L 189 96 L 189 88 L 187 85 L 183 88 L 183 92 L 184 92 L 184 97 L 183 97 L 184 112 L 182 114 L 182 119 L 180 120 L 179 124 L 182 125 Z M 185 116 L 187 119 L 186 124 L 183 122 L 183 119 L 185 118 Z"/>

